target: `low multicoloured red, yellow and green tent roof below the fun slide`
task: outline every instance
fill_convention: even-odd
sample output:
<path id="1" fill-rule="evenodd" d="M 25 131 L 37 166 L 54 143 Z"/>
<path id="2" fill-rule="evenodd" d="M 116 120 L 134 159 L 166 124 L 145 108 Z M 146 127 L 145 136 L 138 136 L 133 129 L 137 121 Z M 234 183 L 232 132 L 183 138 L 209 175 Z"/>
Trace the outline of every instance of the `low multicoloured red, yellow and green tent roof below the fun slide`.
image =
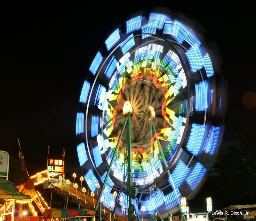
<path id="1" fill-rule="evenodd" d="M 88 209 L 55 209 L 51 208 L 43 212 L 45 218 L 63 218 L 63 217 L 92 217 L 93 210 Z"/>

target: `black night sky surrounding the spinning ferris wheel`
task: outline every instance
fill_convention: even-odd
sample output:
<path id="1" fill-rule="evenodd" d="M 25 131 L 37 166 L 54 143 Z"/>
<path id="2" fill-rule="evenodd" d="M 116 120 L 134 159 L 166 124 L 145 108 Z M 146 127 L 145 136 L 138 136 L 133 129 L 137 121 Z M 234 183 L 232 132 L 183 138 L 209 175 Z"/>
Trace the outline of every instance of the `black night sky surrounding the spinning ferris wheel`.
<path id="1" fill-rule="evenodd" d="M 29 175 L 46 169 L 48 145 L 50 158 L 61 159 L 65 147 L 66 172 L 80 172 L 76 112 L 92 59 L 118 24 L 154 6 L 201 24 L 219 50 L 228 82 L 222 151 L 245 130 L 255 130 L 256 108 L 242 104 L 245 92 L 256 92 L 252 7 L 240 3 L 231 9 L 224 1 L 85 2 L 1 5 L 0 150 L 17 158 L 19 138 Z M 255 107 L 255 100 L 254 93 L 247 103 Z"/>

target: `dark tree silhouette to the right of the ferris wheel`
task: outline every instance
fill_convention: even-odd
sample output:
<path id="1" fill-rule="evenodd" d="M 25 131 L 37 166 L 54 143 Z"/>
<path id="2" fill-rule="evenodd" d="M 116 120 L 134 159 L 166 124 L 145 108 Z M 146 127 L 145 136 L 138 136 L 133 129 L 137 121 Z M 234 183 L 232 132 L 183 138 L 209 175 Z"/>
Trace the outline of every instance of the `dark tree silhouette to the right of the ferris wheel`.
<path id="1" fill-rule="evenodd" d="M 255 203 L 256 198 L 256 133 L 244 134 L 239 145 L 230 145 L 214 164 L 218 194 L 231 204 Z"/>

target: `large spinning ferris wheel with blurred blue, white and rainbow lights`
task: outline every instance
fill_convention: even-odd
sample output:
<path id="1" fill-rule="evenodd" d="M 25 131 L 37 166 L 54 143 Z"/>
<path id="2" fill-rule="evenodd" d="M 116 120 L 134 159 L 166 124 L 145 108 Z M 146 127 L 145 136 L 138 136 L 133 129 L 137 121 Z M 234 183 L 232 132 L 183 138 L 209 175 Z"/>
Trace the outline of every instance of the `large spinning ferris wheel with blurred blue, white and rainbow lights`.
<path id="1" fill-rule="evenodd" d="M 218 57 L 196 24 L 166 11 L 128 18 L 82 85 L 77 156 L 90 190 L 119 213 L 177 212 L 204 183 L 224 130 Z"/>

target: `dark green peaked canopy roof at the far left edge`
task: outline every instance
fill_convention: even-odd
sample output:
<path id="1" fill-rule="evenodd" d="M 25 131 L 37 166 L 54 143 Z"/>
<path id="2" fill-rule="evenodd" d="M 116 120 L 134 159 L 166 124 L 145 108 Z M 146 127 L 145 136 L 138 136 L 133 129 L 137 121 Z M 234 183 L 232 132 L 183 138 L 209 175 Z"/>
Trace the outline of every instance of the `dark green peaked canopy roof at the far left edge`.
<path id="1" fill-rule="evenodd" d="M 2 199 L 31 199 L 31 196 L 20 193 L 15 184 L 0 177 L 0 201 Z"/>

